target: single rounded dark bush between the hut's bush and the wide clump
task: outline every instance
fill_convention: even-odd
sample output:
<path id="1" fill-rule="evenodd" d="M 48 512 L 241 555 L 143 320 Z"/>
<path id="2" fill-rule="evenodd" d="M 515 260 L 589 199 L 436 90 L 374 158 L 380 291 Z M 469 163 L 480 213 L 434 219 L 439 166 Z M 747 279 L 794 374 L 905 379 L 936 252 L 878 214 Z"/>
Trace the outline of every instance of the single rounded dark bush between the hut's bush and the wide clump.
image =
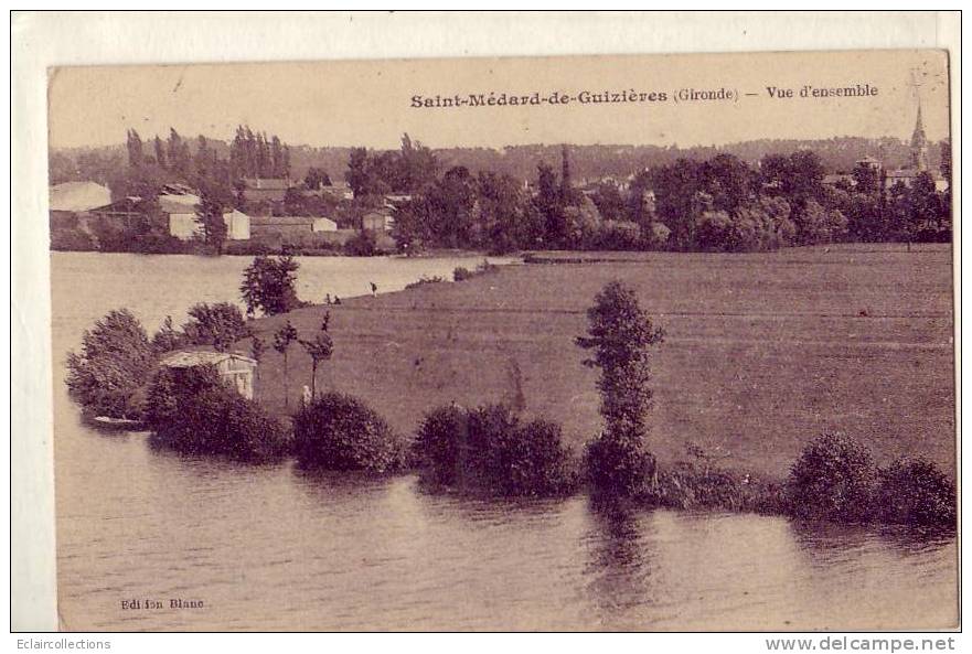
<path id="1" fill-rule="evenodd" d="M 405 452 L 385 420 L 350 395 L 324 394 L 293 418 L 293 453 L 306 468 L 391 472 Z"/>

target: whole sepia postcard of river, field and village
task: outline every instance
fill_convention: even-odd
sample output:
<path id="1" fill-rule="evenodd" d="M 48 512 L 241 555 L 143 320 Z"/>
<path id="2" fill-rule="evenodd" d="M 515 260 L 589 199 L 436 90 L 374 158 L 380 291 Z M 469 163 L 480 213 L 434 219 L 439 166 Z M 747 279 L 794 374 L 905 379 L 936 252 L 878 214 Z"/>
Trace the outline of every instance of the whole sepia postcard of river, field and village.
<path id="1" fill-rule="evenodd" d="M 958 629 L 950 65 L 51 67 L 60 630 Z"/>

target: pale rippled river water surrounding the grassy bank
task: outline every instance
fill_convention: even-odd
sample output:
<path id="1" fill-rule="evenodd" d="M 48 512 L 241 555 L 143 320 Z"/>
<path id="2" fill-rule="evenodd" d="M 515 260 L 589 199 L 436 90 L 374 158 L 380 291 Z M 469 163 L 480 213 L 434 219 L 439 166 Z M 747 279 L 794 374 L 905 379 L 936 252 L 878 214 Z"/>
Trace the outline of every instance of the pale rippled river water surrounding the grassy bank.
<path id="1" fill-rule="evenodd" d="M 450 277 L 481 258 L 301 259 L 299 294 Z M 153 331 L 236 301 L 249 259 L 52 254 L 58 594 L 68 630 L 795 630 L 954 625 L 954 537 L 778 517 L 607 514 L 586 496 L 434 495 L 85 427 L 64 354 L 108 310 Z M 202 602 L 170 608 L 170 600 Z M 122 609 L 138 600 L 140 608 Z M 162 608 L 150 609 L 147 600 Z"/>

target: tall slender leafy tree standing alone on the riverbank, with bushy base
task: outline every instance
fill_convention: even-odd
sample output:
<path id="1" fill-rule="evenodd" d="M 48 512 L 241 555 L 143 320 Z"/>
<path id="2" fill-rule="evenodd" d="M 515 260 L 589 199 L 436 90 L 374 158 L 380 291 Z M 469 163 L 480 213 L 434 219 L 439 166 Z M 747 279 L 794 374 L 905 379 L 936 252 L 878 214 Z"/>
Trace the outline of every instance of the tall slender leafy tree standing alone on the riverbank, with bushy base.
<path id="1" fill-rule="evenodd" d="M 588 335 L 576 343 L 592 352 L 584 364 L 600 369 L 597 386 L 605 419 L 604 432 L 588 448 L 588 470 L 599 491 L 634 494 L 653 472 L 653 458 L 644 449 L 652 397 L 650 349 L 662 342 L 664 332 L 620 281 L 601 289 L 587 318 Z"/>

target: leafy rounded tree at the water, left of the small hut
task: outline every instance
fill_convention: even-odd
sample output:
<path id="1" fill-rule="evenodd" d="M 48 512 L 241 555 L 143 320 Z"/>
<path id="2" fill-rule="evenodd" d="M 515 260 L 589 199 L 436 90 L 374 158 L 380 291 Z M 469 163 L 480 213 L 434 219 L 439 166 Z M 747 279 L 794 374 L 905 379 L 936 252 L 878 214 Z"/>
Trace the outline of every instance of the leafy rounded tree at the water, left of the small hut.
<path id="1" fill-rule="evenodd" d="M 156 351 L 128 309 L 109 311 L 67 355 L 67 388 L 87 410 L 114 418 L 138 417 L 140 388 L 148 382 Z"/>

